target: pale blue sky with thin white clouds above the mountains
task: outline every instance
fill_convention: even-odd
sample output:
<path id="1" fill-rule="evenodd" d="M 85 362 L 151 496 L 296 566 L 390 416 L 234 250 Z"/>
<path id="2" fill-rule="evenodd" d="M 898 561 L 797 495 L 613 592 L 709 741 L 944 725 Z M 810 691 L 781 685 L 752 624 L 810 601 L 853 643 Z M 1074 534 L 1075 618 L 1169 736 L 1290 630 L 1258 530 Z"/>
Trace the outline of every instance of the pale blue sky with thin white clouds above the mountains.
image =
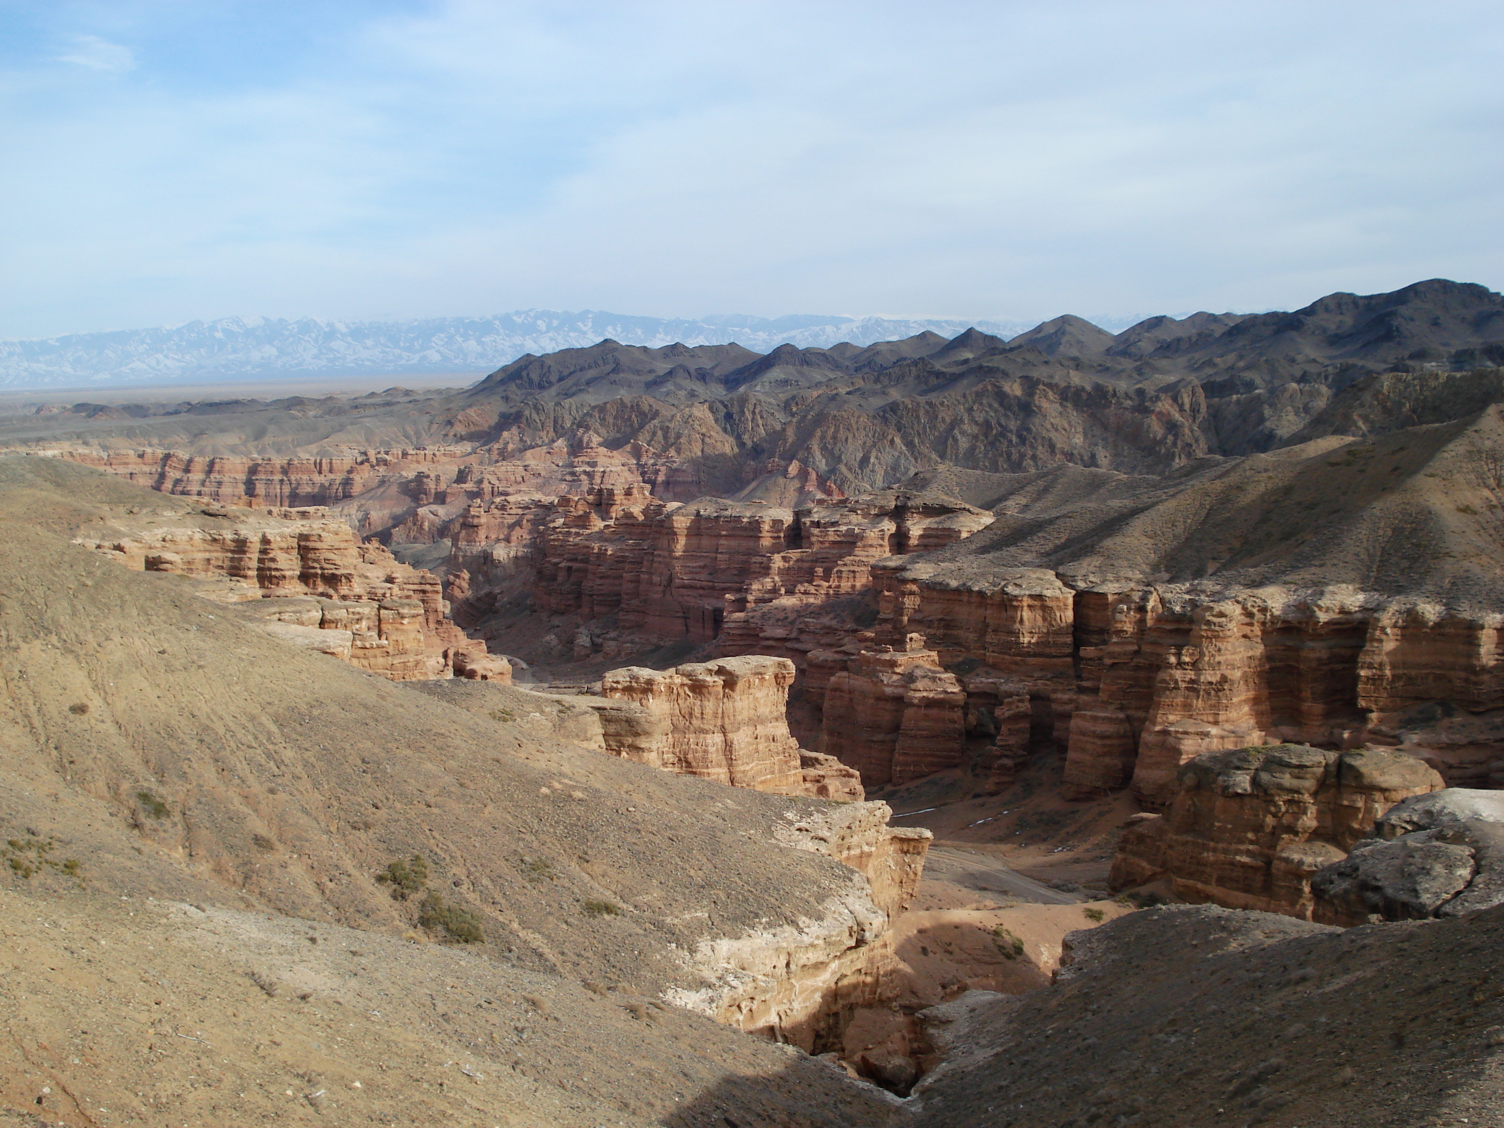
<path id="1" fill-rule="evenodd" d="M 0 0 L 0 337 L 1499 289 L 1501 63 L 1496 0 Z"/>

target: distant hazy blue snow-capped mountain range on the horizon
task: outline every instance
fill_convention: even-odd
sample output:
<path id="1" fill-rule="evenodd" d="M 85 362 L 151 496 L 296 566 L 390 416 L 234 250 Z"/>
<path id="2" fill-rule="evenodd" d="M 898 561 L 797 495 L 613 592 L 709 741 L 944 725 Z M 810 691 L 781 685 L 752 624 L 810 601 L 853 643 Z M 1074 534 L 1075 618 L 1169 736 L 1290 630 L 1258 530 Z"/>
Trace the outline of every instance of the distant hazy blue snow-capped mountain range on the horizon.
<path id="1" fill-rule="evenodd" d="M 826 347 L 871 344 L 929 329 L 955 337 L 975 325 L 1011 337 L 1011 322 L 714 316 L 699 320 L 630 314 L 519 310 L 496 317 L 435 317 L 409 322 L 326 322 L 223 317 L 174 328 L 81 332 L 45 340 L 0 341 L 0 388 L 128 387 L 205 384 L 286 376 L 474 373 L 499 368 L 525 353 L 596 344 L 725 344 L 757 352 L 791 343 Z"/>

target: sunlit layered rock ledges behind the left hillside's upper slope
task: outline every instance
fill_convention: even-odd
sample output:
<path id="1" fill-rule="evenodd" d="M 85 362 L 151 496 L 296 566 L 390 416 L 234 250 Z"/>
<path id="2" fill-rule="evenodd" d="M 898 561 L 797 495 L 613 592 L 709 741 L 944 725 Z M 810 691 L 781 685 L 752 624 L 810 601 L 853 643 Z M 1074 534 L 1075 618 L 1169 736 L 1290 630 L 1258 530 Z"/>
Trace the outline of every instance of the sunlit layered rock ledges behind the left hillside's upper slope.
<path id="1" fill-rule="evenodd" d="M 439 579 L 359 541 L 322 507 L 205 510 L 120 516 L 107 535 L 77 543 L 137 572 L 232 581 L 209 590 L 226 602 L 269 600 L 280 638 L 393 681 L 459 674 L 510 681 L 511 665 L 486 653 L 448 618 Z"/>

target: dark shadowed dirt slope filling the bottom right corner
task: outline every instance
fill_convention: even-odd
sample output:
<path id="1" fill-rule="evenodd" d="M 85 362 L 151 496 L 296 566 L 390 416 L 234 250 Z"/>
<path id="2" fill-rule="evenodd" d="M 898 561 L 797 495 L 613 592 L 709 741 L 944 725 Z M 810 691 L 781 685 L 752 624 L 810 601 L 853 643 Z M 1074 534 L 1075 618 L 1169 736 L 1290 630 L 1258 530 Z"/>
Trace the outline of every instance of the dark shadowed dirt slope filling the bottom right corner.
<path id="1" fill-rule="evenodd" d="M 934 1128 L 1498 1123 L 1501 940 L 1498 910 L 1348 931 L 1131 913 L 1077 932 L 1056 987 L 942 1008 L 954 1056 L 914 1102 Z"/>

